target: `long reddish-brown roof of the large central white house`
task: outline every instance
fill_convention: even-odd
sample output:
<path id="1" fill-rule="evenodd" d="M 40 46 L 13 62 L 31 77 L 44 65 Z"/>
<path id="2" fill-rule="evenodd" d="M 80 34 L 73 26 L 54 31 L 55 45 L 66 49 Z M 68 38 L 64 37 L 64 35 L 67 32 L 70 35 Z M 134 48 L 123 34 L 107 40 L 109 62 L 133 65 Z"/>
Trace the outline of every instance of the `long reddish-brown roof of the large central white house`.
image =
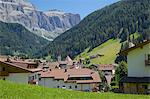
<path id="1" fill-rule="evenodd" d="M 90 69 L 51 69 L 51 71 L 40 72 L 42 78 L 62 79 L 70 82 L 69 77 L 92 77 L 92 80 L 74 80 L 76 83 L 98 83 L 101 82 L 98 72 Z M 72 81 L 71 81 L 72 82 Z"/>

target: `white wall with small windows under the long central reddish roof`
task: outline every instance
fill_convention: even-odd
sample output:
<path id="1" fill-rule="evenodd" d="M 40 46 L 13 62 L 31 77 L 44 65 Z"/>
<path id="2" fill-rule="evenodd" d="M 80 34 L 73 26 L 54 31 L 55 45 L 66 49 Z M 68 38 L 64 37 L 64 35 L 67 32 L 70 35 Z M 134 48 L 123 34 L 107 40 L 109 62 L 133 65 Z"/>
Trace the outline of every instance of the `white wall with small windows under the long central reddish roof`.
<path id="1" fill-rule="evenodd" d="M 39 85 L 41 86 L 46 86 L 49 88 L 62 88 L 63 86 L 65 86 L 66 89 L 70 89 L 71 86 L 71 90 L 89 90 L 92 91 L 92 84 L 76 84 L 76 83 L 64 83 L 63 80 L 53 80 L 53 78 L 41 78 L 41 81 L 39 81 Z M 75 87 L 77 86 L 77 88 Z"/>

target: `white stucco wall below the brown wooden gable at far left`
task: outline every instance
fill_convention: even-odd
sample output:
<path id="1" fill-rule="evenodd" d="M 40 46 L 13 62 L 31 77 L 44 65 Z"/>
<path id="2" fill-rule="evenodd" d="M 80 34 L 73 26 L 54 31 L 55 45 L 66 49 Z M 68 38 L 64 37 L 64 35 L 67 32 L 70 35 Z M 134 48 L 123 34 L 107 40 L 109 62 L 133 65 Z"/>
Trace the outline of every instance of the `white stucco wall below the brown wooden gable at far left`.
<path id="1" fill-rule="evenodd" d="M 30 73 L 9 73 L 9 76 L 5 77 L 6 80 L 28 84 L 28 76 Z"/>

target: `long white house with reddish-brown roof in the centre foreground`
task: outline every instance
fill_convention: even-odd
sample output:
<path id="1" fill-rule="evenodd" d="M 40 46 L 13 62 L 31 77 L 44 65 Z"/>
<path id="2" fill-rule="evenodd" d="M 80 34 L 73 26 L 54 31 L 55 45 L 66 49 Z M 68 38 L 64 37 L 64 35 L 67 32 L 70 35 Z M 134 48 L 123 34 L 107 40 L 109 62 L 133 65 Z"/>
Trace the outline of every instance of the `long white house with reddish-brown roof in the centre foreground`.
<path id="1" fill-rule="evenodd" d="M 39 85 L 79 91 L 93 91 L 101 82 L 98 72 L 90 69 L 50 69 L 40 72 Z"/>

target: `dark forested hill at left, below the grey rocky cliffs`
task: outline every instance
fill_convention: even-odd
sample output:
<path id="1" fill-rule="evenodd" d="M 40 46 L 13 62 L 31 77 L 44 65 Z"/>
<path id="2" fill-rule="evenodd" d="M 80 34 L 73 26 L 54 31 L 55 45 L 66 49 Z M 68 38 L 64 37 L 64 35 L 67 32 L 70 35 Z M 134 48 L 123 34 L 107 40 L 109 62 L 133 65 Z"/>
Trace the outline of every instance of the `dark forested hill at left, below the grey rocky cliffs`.
<path id="1" fill-rule="evenodd" d="M 0 21 L 0 55 L 31 55 L 47 43 L 18 23 Z"/>

